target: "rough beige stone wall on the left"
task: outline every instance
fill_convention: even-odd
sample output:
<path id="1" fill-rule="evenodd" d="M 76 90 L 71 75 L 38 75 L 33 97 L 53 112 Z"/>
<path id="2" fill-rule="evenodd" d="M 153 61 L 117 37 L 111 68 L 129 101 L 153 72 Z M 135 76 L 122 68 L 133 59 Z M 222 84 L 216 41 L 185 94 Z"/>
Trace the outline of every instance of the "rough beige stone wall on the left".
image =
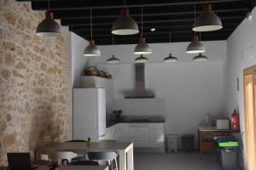
<path id="1" fill-rule="evenodd" d="M 61 37 L 38 37 L 44 11 L 31 3 L 0 0 L 0 166 L 6 153 L 33 150 L 69 135 L 68 43 Z"/>

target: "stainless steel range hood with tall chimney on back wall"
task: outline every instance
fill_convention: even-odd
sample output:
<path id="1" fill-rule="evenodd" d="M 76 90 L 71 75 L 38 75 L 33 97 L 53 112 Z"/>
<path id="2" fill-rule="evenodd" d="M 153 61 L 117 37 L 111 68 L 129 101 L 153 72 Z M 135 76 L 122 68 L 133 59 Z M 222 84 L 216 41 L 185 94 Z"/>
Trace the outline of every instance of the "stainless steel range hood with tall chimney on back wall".
<path id="1" fill-rule="evenodd" d="M 125 96 L 125 99 L 150 99 L 154 98 L 153 94 L 147 94 L 145 88 L 145 65 L 143 63 L 135 64 L 135 77 L 136 77 L 136 94 Z"/>

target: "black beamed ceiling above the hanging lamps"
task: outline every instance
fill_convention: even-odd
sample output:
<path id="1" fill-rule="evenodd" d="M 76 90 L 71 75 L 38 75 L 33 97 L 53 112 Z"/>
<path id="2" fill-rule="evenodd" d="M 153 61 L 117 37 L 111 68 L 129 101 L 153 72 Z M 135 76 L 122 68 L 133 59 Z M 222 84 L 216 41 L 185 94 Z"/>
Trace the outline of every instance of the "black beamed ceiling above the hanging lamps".
<path id="1" fill-rule="evenodd" d="M 17 0 L 24 2 L 28 0 Z M 202 32 L 201 40 L 225 40 L 236 29 L 255 0 L 126 0 L 126 8 L 130 9 L 131 17 L 137 21 L 141 29 L 141 7 L 143 6 L 143 33 L 147 42 L 189 42 L 193 36 L 192 23 L 194 7 L 196 15 L 201 12 L 203 3 L 212 3 L 212 10 L 222 20 L 224 28 L 220 31 Z M 195 5 L 196 4 L 196 5 Z M 93 39 L 97 45 L 112 44 L 112 26 L 118 19 L 123 0 L 50 0 L 49 8 L 54 12 L 55 19 L 61 19 L 62 26 L 69 26 L 70 31 L 90 40 L 90 8 L 92 8 Z M 47 0 L 33 0 L 33 10 L 46 10 Z M 156 31 L 151 32 L 150 29 Z M 135 44 L 140 34 L 130 36 L 114 36 L 115 44 Z"/>

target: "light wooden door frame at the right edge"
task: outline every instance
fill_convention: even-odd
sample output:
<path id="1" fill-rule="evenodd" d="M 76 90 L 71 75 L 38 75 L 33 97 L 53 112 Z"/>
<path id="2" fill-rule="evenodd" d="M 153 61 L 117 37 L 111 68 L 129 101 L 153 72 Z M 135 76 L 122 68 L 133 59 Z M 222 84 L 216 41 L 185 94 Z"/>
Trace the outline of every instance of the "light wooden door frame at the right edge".
<path id="1" fill-rule="evenodd" d="M 243 71 L 247 170 L 256 169 L 256 65 Z"/>

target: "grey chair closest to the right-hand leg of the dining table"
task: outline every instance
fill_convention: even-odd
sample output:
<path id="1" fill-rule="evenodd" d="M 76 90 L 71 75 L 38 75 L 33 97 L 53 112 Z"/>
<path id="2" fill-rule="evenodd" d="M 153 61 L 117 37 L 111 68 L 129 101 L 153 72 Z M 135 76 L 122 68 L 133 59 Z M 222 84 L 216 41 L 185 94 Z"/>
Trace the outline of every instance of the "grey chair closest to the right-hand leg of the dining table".
<path id="1" fill-rule="evenodd" d="M 117 165 L 117 157 L 118 155 L 115 152 L 89 152 L 88 157 L 90 161 L 92 160 L 97 160 L 97 161 L 108 161 L 108 166 L 110 166 L 110 169 L 113 170 L 118 170 L 118 165 Z M 115 168 L 113 168 L 113 162 Z"/>

